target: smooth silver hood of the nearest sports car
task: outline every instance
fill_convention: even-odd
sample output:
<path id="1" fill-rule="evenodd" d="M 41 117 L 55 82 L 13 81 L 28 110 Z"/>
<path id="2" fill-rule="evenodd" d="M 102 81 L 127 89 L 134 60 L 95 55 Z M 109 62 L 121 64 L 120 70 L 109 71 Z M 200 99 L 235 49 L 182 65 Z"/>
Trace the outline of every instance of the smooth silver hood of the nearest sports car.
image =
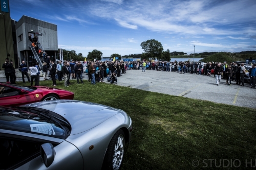
<path id="1" fill-rule="evenodd" d="M 24 106 L 50 110 L 65 117 L 72 127 L 70 135 L 87 131 L 122 112 L 109 106 L 74 100 L 45 101 Z"/>

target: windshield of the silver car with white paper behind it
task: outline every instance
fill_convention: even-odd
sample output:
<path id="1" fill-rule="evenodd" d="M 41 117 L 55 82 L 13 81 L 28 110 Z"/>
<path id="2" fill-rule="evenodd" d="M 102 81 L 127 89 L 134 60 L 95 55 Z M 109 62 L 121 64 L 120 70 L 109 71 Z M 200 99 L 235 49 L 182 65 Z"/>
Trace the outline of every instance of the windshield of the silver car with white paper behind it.
<path id="1" fill-rule="evenodd" d="M 35 133 L 66 139 L 66 130 L 61 125 L 39 114 L 25 110 L 0 107 L 0 129 Z"/>

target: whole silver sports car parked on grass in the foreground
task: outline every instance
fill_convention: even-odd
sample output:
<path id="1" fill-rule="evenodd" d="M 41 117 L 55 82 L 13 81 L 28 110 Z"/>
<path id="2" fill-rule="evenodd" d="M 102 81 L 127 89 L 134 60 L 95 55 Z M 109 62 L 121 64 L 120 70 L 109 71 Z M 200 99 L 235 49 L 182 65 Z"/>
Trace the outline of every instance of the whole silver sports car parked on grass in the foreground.
<path id="1" fill-rule="evenodd" d="M 0 107 L 0 169 L 119 169 L 132 129 L 124 111 L 90 102 Z"/>

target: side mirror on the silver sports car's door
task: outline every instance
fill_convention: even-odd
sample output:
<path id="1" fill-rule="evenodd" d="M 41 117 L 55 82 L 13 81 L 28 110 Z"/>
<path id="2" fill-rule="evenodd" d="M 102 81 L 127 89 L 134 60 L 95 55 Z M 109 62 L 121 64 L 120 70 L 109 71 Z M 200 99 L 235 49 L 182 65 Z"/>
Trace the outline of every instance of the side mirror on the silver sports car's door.
<path id="1" fill-rule="evenodd" d="M 52 143 L 41 144 L 40 150 L 42 162 L 45 163 L 46 167 L 49 167 L 54 161 L 55 157 L 55 150 Z"/>

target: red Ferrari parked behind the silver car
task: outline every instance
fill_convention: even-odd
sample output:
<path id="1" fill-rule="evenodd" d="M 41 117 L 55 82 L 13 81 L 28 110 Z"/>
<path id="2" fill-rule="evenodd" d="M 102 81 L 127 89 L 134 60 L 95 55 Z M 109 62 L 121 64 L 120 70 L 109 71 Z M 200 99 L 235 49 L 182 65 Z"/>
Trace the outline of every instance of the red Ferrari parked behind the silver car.
<path id="1" fill-rule="evenodd" d="M 74 93 L 45 86 L 0 83 L 0 106 L 18 106 L 40 101 L 74 99 Z"/>

